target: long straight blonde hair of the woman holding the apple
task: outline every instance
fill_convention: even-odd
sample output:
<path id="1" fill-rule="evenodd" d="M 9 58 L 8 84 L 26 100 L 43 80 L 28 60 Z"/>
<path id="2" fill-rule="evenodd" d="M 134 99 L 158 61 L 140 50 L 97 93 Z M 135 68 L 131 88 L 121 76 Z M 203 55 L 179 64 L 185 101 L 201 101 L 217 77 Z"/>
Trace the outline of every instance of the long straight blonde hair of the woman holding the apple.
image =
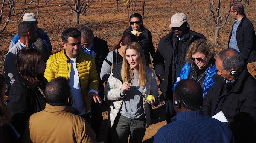
<path id="1" fill-rule="evenodd" d="M 140 62 L 139 62 L 139 79 L 138 79 L 138 84 L 143 87 L 146 84 L 148 84 L 148 78 L 147 78 L 147 66 L 146 66 L 146 60 L 144 57 L 144 53 L 143 50 L 140 46 L 140 44 L 138 42 L 131 42 L 130 44 L 127 45 L 127 47 L 125 48 L 125 53 L 124 55 L 126 55 L 126 51 L 128 49 L 134 49 L 139 53 L 139 58 L 140 58 Z M 123 64 L 122 64 L 122 68 L 121 68 L 121 76 L 122 76 L 122 80 L 123 82 L 131 80 L 131 85 L 134 82 L 133 79 L 133 72 L 131 70 L 131 67 L 128 63 L 128 61 L 126 60 L 126 57 L 123 57 Z"/>

